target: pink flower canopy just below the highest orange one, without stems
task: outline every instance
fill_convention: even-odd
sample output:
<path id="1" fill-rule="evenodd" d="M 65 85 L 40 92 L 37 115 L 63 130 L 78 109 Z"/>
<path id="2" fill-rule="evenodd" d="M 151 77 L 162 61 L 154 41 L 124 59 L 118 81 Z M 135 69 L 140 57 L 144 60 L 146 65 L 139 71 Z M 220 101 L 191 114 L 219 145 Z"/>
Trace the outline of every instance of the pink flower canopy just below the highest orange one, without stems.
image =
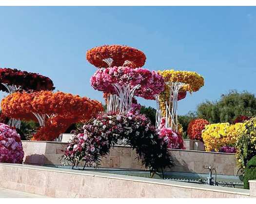
<path id="1" fill-rule="evenodd" d="M 130 67 L 100 68 L 90 79 L 91 85 L 98 91 L 116 93 L 113 84 L 130 88 L 140 85 L 135 91 L 136 96 L 145 99 L 154 99 L 154 94 L 164 90 L 164 79 L 155 71 L 151 72 L 143 68 L 132 69 Z"/>

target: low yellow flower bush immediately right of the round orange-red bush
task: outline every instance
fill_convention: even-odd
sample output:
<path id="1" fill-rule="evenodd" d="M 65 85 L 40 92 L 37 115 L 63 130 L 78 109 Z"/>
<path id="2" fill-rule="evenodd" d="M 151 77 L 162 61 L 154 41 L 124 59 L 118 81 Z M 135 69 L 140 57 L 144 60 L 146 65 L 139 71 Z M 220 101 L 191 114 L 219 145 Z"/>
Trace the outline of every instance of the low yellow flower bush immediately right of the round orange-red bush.
<path id="1" fill-rule="evenodd" d="M 223 146 L 235 146 L 238 136 L 244 130 L 243 123 L 230 125 L 229 123 L 216 123 L 205 126 L 202 139 L 206 151 L 219 151 Z"/>

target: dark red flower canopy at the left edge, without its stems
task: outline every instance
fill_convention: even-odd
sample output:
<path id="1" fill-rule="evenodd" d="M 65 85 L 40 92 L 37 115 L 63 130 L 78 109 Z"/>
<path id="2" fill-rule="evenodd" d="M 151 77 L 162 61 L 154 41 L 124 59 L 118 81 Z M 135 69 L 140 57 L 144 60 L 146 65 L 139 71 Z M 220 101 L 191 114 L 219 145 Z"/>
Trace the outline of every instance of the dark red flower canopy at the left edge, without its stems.
<path id="1" fill-rule="evenodd" d="M 55 89 L 52 80 L 46 76 L 10 68 L 0 68 L 0 83 L 20 86 L 25 91 Z M 0 90 L 7 92 L 2 84 L 0 84 Z"/>

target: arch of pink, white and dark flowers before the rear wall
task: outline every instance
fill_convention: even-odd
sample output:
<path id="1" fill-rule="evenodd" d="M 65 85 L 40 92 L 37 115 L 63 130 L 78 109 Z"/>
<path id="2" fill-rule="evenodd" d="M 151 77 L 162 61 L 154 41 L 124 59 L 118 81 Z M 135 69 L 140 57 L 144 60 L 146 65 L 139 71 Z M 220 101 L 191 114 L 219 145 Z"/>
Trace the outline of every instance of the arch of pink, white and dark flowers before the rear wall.
<path id="1" fill-rule="evenodd" d="M 151 170 L 172 165 L 167 141 L 156 132 L 145 115 L 128 113 L 100 113 L 78 130 L 64 150 L 64 164 L 98 166 L 100 157 L 109 152 L 118 139 L 136 150 L 138 158 Z"/>

